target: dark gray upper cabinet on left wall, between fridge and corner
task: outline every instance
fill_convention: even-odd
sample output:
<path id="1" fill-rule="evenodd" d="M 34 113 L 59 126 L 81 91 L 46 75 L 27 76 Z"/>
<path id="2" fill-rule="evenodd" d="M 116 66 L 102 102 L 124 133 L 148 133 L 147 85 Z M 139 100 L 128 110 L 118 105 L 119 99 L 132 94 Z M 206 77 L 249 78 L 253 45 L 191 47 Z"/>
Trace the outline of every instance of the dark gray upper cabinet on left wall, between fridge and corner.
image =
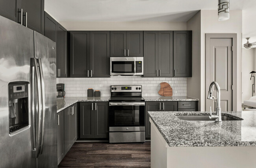
<path id="1" fill-rule="evenodd" d="M 57 78 L 67 78 L 67 30 L 46 12 L 45 36 L 56 42 Z"/>

